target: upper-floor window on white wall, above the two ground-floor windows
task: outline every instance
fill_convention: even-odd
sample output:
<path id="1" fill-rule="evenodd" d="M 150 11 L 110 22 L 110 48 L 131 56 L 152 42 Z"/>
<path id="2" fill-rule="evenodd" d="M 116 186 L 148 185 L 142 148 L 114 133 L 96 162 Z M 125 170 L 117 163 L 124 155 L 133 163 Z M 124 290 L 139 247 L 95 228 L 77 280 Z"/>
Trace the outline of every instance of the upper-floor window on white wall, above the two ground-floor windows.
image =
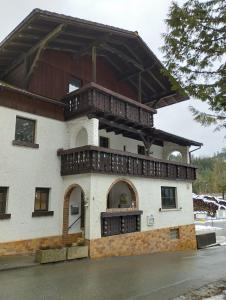
<path id="1" fill-rule="evenodd" d="M 34 144 L 35 121 L 22 117 L 16 117 L 15 140 Z"/>

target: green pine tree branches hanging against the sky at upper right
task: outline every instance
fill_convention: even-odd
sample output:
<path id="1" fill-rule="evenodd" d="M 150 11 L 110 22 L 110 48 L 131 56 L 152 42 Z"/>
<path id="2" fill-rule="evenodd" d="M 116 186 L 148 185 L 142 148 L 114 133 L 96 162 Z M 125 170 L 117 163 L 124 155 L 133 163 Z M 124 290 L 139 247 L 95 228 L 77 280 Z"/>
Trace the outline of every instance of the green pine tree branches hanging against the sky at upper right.
<path id="1" fill-rule="evenodd" d="M 181 7 L 173 2 L 166 24 L 162 50 L 166 74 L 178 80 L 169 75 L 173 89 L 180 84 L 209 104 L 210 114 L 191 108 L 197 121 L 226 128 L 226 1 L 188 0 Z"/>

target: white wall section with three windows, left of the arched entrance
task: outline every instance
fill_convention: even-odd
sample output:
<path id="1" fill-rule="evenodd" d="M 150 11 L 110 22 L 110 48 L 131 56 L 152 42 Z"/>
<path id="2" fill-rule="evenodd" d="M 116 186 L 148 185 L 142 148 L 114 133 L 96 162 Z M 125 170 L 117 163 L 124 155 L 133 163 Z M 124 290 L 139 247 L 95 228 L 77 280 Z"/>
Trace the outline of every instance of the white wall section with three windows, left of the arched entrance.
<path id="1" fill-rule="evenodd" d="M 39 149 L 13 146 L 16 116 L 35 119 Z M 57 149 L 68 147 L 64 122 L 0 107 L 0 186 L 9 187 L 7 212 L 0 220 L 0 242 L 62 234 L 63 178 Z M 32 217 L 36 187 L 50 190 L 54 216 Z"/>

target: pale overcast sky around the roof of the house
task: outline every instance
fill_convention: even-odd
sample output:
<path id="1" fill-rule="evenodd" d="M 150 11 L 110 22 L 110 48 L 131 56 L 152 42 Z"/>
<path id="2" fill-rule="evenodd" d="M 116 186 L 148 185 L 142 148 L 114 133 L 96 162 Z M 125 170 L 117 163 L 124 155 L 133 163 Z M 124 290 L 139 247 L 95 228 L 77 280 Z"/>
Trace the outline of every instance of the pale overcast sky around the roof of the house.
<path id="1" fill-rule="evenodd" d="M 137 30 L 161 60 L 159 50 L 166 31 L 164 19 L 170 0 L 0 0 L 0 40 L 14 29 L 32 9 L 40 8 L 73 17 L 88 19 L 128 30 Z M 179 1 L 180 3 L 183 0 Z M 213 132 L 195 121 L 188 110 L 190 105 L 207 110 L 198 100 L 189 100 L 158 110 L 155 127 L 202 142 L 204 146 L 196 155 L 212 155 L 226 147 L 225 131 Z"/>

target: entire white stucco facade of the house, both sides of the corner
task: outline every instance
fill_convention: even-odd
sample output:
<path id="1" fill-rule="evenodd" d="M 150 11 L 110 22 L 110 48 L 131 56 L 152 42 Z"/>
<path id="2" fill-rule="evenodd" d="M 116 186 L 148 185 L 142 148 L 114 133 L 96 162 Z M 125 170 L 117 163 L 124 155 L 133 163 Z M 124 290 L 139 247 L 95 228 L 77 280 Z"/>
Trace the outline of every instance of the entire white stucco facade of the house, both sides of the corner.
<path id="1" fill-rule="evenodd" d="M 39 144 L 38 149 L 12 145 L 16 116 L 36 121 L 35 143 Z M 110 148 L 123 150 L 123 146 L 126 146 L 126 151 L 133 153 L 137 153 L 137 145 L 142 143 L 122 135 L 99 131 L 98 126 L 97 119 L 87 117 L 63 122 L 0 107 L 0 186 L 9 188 L 7 213 L 11 214 L 10 219 L 0 220 L 1 243 L 61 235 L 64 196 L 73 185 L 79 185 L 84 192 L 86 239 L 101 237 L 100 214 L 106 212 L 109 188 L 119 176 L 81 174 L 62 177 L 57 150 L 84 144 L 98 146 L 99 136 L 110 139 Z M 164 149 L 153 145 L 151 152 L 152 156 L 162 158 Z M 137 192 L 137 208 L 143 211 L 142 231 L 193 223 L 190 182 L 132 176 L 120 178 L 131 182 Z M 161 186 L 176 187 L 177 209 L 160 211 Z M 53 216 L 32 217 L 36 187 L 50 188 L 49 210 L 54 212 Z M 73 197 L 77 197 L 76 191 Z M 79 205 L 80 200 L 73 201 Z M 150 214 L 155 219 L 152 227 L 146 221 Z M 69 223 L 76 217 L 69 216 Z M 69 233 L 79 231 L 78 223 Z"/>

